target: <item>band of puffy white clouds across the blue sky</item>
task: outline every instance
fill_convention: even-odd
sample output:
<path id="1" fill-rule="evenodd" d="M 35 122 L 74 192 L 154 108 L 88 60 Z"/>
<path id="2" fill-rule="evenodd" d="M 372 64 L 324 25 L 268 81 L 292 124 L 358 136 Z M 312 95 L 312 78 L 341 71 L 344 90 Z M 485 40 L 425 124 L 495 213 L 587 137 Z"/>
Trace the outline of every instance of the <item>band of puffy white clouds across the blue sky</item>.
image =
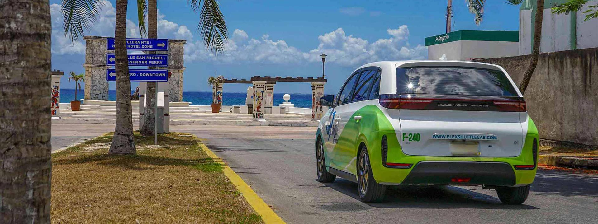
<path id="1" fill-rule="evenodd" d="M 114 36 L 115 8 L 111 2 L 104 1 L 99 18 L 86 35 Z M 52 16 L 52 53 L 84 54 L 83 39 L 72 42 L 62 29 L 60 5 L 51 4 Z M 169 39 L 187 39 L 185 61 L 213 63 L 266 63 L 288 64 L 319 62 L 320 54 L 328 54 L 327 62 L 342 66 L 358 66 L 377 60 L 424 59 L 426 48 L 422 45 L 411 47 L 408 43 L 409 29 L 406 25 L 398 29 L 387 29 L 387 39 L 369 42 L 365 39 L 347 35 L 342 28 L 318 36 L 319 44 L 313 50 L 302 51 L 290 46 L 284 40 L 273 40 L 264 34 L 261 38 L 251 38 L 244 30 L 235 29 L 225 42 L 224 52 L 215 55 L 208 51 L 202 40 L 194 40 L 193 34 L 185 25 L 166 20 L 158 11 L 158 37 Z M 127 20 L 127 36 L 138 38 L 139 27 Z"/>

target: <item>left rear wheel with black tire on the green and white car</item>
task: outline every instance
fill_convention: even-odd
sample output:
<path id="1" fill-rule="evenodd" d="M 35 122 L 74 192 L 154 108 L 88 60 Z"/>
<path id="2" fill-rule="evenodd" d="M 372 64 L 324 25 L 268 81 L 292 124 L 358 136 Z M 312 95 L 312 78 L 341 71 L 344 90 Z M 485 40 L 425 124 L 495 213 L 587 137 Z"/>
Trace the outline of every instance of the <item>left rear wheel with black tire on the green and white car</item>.
<path id="1" fill-rule="evenodd" d="M 381 202 L 384 200 L 386 186 L 376 182 L 370 164 L 370 155 L 368 155 L 368 150 L 364 146 L 359 153 L 357 164 L 357 192 L 359 200 L 363 202 Z"/>

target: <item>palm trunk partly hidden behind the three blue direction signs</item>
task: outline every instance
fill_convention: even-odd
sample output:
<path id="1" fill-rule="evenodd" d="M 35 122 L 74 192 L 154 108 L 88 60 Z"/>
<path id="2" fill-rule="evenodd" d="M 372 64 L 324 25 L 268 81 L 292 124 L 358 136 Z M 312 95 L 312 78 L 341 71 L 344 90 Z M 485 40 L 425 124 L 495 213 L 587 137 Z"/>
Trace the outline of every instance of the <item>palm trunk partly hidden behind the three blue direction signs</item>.
<path id="1" fill-rule="evenodd" d="M 148 38 L 158 38 L 158 7 L 156 0 L 148 0 Z M 149 54 L 155 54 L 155 51 L 148 51 Z M 156 69 L 155 66 L 149 66 L 148 69 Z M 141 134 L 144 136 L 153 136 L 155 131 L 155 106 L 156 82 L 147 82 L 145 91 L 145 115 L 144 125 L 141 128 Z"/>

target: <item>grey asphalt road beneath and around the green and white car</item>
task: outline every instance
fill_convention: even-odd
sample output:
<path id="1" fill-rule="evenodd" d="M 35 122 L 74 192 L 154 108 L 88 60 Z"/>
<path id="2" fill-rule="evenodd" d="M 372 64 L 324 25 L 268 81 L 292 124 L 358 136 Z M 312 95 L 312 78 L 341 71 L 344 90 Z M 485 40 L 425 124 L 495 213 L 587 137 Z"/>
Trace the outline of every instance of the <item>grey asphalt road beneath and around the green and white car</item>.
<path id="1" fill-rule="evenodd" d="M 523 205 L 481 187 L 404 188 L 365 204 L 355 183 L 316 179 L 315 128 L 176 126 L 224 158 L 288 223 L 598 223 L 598 176 L 538 171 Z"/>

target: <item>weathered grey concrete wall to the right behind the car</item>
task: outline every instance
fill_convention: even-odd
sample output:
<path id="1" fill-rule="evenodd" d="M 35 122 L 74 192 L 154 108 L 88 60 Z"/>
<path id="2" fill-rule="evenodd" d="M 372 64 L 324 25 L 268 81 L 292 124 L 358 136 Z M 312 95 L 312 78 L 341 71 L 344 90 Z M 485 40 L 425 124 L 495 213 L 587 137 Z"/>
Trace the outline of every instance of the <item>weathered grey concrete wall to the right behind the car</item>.
<path id="1" fill-rule="evenodd" d="M 519 84 L 529 55 L 482 59 Z M 598 145 L 598 48 L 540 54 L 527 87 L 527 111 L 543 139 Z"/>

